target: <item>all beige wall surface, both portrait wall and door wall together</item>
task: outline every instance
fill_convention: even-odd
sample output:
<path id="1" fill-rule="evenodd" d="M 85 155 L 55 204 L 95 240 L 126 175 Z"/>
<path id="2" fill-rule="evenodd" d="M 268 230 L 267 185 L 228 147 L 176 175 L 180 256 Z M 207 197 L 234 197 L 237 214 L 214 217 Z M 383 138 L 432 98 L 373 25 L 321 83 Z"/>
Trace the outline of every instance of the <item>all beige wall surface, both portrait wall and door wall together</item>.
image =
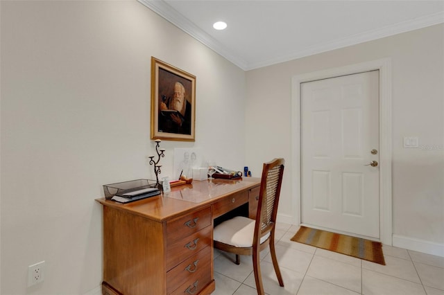
<path id="1" fill-rule="evenodd" d="M 291 77 L 392 57 L 394 233 L 443 243 L 443 26 L 245 73 L 136 1 L 0 1 L 1 294 L 99 294 L 102 185 L 153 177 L 155 56 L 196 75 L 196 143 L 229 168 L 291 162 Z M 216 118 L 216 116 L 218 119 Z M 280 215 L 291 216 L 291 167 Z M 44 283 L 27 267 L 46 261 Z"/>

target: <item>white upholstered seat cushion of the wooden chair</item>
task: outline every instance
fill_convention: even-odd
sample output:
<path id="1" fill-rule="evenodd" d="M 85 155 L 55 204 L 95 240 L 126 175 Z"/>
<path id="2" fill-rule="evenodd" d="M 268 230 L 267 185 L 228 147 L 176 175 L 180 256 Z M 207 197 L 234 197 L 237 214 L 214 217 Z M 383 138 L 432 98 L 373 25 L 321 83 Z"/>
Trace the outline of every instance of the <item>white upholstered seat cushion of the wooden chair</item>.
<path id="1" fill-rule="evenodd" d="M 255 220 L 237 216 L 216 226 L 213 232 L 213 239 L 234 247 L 253 247 L 254 233 Z M 270 233 L 267 233 L 261 238 L 261 244 L 269 235 Z"/>

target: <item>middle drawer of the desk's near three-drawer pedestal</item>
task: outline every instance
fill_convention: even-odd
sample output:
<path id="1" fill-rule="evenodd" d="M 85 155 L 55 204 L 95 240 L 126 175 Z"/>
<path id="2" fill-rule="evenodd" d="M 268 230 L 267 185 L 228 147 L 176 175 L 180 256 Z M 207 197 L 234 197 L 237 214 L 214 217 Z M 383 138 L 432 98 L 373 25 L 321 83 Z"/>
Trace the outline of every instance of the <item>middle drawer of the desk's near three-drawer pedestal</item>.
<path id="1" fill-rule="evenodd" d="M 212 226 L 207 226 L 173 244 L 167 244 L 167 271 L 205 247 L 211 246 L 211 242 Z"/>

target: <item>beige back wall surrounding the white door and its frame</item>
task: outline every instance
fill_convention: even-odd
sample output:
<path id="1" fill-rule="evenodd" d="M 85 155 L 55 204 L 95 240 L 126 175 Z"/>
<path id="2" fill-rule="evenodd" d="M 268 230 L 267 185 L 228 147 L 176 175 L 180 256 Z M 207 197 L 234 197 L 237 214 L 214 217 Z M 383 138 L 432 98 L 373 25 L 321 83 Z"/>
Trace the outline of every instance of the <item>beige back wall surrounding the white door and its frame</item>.
<path id="1" fill-rule="evenodd" d="M 255 173 L 260 171 L 258 159 L 280 156 L 291 163 L 293 76 L 385 57 L 391 58 L 393 71 L 393 234 L 431 242 L 443 251 L 443 24 L 248 71 L 246 163 L 253 166 Z M 258 130 L 257 126 L 262 128 Z M 418 136 L 420 146 L 432 150 L 403 148 L 404 136 Z M 299 152 L 299 147 L 293 148 Z M 291 171 L 287 169 L 281 217 L 297 214 L 291 181 Z"/>

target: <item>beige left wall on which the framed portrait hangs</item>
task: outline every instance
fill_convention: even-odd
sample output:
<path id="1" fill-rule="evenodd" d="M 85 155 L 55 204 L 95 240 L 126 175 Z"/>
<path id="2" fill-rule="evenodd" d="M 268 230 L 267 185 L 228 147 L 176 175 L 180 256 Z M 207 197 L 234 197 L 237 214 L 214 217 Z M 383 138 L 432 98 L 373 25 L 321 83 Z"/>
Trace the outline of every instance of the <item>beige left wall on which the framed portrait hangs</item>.
<path id="1" fill-rule="evenodd" d="M 151 56 L 196 75 L 196 142 L 162 141 L 162 176 L 174 147 L 243 167 L 245 73 L 137 1 L 0 3 L 0 293 L 85 294 L 102 278 L 102 185 L 153 177 Z"/>

